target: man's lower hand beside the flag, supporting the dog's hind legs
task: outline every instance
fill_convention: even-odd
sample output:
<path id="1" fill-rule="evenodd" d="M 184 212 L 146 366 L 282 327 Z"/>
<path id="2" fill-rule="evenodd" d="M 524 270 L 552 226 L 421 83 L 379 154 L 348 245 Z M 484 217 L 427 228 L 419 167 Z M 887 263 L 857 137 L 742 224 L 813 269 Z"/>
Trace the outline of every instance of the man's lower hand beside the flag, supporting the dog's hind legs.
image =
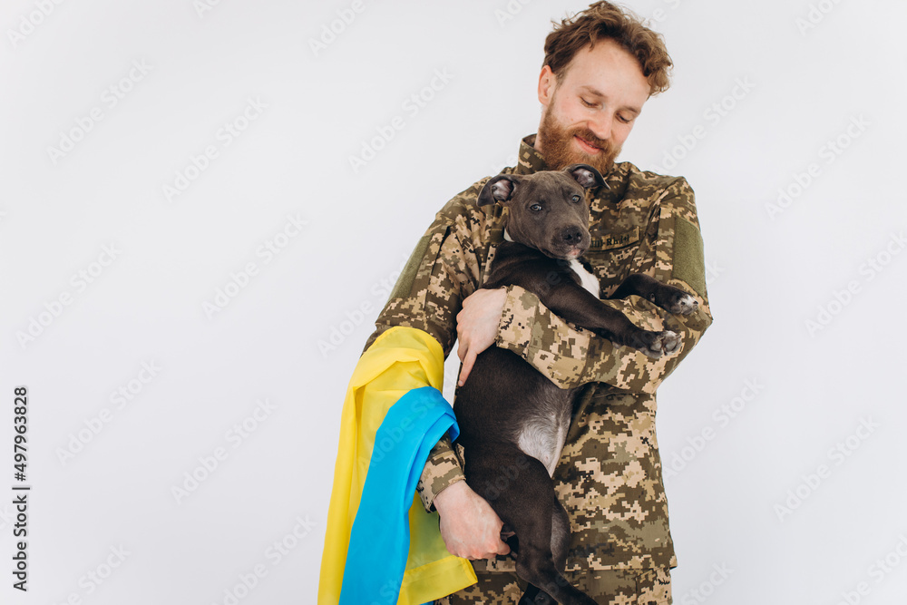
<path id="1" fill-rule="evenodd" d="M 441 537 L 451 554 L 464 559 L 491 559 L 510 552 L 501 541 L 503 522 L 465 481 L 453 483 L 434 497 L 441 515 Z"/>

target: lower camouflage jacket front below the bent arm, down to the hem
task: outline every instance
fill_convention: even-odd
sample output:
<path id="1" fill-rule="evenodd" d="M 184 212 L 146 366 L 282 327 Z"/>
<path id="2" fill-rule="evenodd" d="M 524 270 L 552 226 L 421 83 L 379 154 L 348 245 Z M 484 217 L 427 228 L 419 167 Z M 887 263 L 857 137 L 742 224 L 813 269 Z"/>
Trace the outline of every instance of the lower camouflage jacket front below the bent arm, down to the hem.
<path id="1" fill-rule="evenodd" d="M 568 571 L 677 564 L 655 412 L 653 395 L 583 392 L 554 470 L 555 491 L 571 516 Z"/>

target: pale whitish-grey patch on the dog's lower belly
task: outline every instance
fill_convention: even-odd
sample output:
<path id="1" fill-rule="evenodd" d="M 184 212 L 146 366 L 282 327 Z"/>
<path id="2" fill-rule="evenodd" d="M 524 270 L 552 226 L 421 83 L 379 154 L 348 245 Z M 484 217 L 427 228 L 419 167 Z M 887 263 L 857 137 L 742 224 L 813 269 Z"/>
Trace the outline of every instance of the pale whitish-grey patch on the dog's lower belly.
<path id="1" fill-rule="evenodd" d="M 538 408 L 522 418 L 516 437 L 522 453 L 544 464 L 549 475 L 554 474 L 554 467 L 561 458 L 573 405 L 572 390 L 555 389 L 556 392 L 542 395 Z"/>

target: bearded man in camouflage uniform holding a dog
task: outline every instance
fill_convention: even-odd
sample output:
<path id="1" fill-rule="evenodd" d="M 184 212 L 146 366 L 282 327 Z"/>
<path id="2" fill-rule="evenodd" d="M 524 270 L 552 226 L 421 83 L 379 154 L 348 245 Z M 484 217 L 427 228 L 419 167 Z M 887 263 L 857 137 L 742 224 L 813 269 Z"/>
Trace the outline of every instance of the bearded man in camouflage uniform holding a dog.
<path id="1" fill-rule="evenodd" d="M 502 241 L 506 210 L 478 208 L 485 180 L 438 212 L 414 250 L 385 308 L 375 338 L 414 327 L 437 339 L 447 356 L 459 337 L 459 384 L 488 346 L 521 355 L 579 398 L 553 478 L 571 516 L 565 576 L 604 603 L 669 603 L 669 569 L 677 565 L 655 434 L 655 391 L 711 323 L 702 240 L 693 191 L 682 178 L 614 163 L 652 94 L 668 88 L 672 66 L 658 34 L 607 2 L 564 20 L 548 36 L 538 97 L 537 135 L 523 139 L 519 164 L 506 173 L 560 170 L 587 163 L 610 189 L 592 190 L 592 245 L 584 256 L 610 294 L 630 273 L 647 273 L 697 298 L 688 317 L 660 312 L 638 297 L 608 301 L 648 329 L 671 329 L 681 350 L 658 360 L 616 347 L 573 327 L 518 287 L 479 289 Z M 455 407 L 454 407 L 455 412 Z M 447 550 L 473 560 L 478 583 L 438 603 L 515 603 L 524 583 L 514 572 L 502 522 L 463 481 L 462 459 L 444 438 L 424 466 L 418 491 L 437 510 Z"/>

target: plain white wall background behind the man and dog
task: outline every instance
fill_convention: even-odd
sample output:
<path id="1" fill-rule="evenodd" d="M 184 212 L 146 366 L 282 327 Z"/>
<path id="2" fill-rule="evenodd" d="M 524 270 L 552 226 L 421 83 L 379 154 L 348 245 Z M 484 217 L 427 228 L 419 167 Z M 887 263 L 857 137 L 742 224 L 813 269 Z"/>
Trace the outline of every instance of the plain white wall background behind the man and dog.
<path id="1" fill-rule="evenodd" d="M 0 602 L 315 602 L 340 405 L 387 282 L 446 200 L 514 163 L 551 19 L 585 6 L 199 5 L 0 9 Z M 696 190 L 715 317 L 659 391 L 675 602 L 901 603 L 907 5 L 631 6 L 677 67 L 619 159 Z"/>

